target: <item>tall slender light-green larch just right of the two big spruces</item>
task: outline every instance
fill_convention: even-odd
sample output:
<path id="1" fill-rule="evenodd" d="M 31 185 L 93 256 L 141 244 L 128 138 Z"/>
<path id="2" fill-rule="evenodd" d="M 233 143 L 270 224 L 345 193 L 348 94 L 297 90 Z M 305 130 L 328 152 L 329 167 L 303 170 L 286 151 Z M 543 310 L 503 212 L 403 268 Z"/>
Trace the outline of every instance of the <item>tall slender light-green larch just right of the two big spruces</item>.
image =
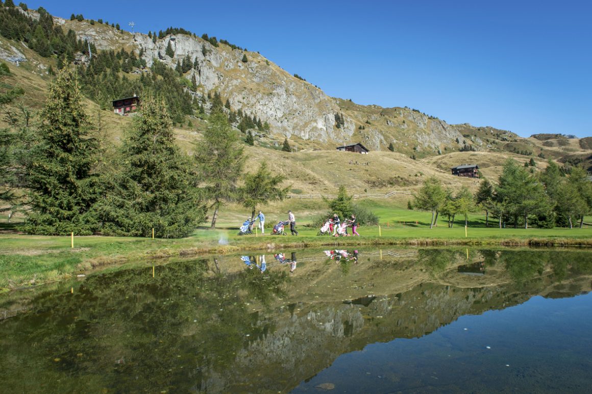
<path id="1" fill-rule="evenodd" d="M 205 195 L 214 208 L 211 228 L 215 228 L 218 211 L 224 202 L 236 198 L 236 182 L 243 170 L 243 148 L 222 112 L 210 115 L 208 128 L 195 143 L 195 163 L 201 178 L 208 185 Z"/>

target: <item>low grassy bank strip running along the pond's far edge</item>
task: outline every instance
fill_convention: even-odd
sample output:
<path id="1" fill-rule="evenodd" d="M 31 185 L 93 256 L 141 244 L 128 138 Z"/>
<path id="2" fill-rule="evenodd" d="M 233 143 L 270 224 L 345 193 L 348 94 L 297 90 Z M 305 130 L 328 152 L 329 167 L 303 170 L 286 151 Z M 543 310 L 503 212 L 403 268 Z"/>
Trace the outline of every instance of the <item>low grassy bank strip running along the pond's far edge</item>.
<path id="1" fill-rule="evenodd" d="M 287 235 L 237 236 L 233 228 L 197 230 L 191 237 L 163 240 L 131 237 L 49 237 L 0 234 L 0 292 L 22 286 L 67 279 L 110 266 L 137 261 L 230 254 L 246 251 L 285 251 L 287 248 L 349 248 L 364 246 L 513 246 L 592 247 L 592 228 L 429 228 L 362 227 L 362 237 L 317 236 L 301 227 L 297 237 Z M 591 250 L 592 251 L 592 250 Z"/>

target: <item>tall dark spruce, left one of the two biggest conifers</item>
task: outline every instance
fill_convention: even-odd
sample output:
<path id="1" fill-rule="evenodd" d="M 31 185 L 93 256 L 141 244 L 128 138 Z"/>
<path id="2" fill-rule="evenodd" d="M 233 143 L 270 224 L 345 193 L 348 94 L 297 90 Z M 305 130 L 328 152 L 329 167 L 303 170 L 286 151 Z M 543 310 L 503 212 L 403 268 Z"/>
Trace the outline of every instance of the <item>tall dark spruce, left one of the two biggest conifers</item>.
<path id="1" fill-rule="evenodd" d="M 30 234 L 91 234 L 96 228 L 89 210 L 97 198 L 98 143 L 89 137 L 82 103 L 75 76 L 63 70 L 50 88 L 27 164 L 31 211 L 22 230 Z"/>

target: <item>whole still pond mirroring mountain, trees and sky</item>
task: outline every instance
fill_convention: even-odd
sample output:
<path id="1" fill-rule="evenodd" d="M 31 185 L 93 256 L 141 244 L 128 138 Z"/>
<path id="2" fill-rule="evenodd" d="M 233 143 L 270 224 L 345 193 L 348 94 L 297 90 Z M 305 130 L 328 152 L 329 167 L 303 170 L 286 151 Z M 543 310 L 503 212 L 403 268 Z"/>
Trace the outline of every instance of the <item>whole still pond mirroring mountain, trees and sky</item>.
<path id="1" fill-rule="evenodd" d="M 2 390 L 590 392 L 590 251 L 274 253 L 1 295 Z"/>

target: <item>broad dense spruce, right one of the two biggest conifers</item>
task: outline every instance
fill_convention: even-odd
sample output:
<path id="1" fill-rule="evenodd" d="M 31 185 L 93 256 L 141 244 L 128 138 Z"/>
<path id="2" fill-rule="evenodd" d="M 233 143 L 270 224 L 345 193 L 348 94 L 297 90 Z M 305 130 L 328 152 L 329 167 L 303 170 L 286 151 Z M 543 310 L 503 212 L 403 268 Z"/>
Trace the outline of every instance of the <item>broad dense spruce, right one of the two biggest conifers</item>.
<path id="1" fill-rule="evenodd" d="M 191 160 L 176 145 L 162 99 L 144 97 L 119 162 L 120 172 L 107 180 L 95 208 L 102 232 L 148 237 L 154 228 L 156 237 L 181 238 L 204 221 Z"/>

